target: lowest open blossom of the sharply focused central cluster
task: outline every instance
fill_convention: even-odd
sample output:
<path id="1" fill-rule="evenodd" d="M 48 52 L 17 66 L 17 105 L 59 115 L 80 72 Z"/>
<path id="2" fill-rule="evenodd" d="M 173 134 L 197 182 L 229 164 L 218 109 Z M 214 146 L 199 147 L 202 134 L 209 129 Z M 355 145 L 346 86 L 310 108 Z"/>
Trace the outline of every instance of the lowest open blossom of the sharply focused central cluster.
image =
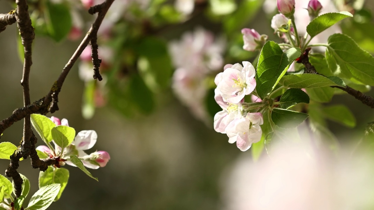
<path id="1" fill-rule="evenodd" d="M 237 148 L 247 151 L 252 143 L 261 140 L 262 130 L 260 125 L 264 123 L 260 112 L 248 113 L 246 117 L 236 118 L 226 127 L 229 143 L 236 142 Z"/>

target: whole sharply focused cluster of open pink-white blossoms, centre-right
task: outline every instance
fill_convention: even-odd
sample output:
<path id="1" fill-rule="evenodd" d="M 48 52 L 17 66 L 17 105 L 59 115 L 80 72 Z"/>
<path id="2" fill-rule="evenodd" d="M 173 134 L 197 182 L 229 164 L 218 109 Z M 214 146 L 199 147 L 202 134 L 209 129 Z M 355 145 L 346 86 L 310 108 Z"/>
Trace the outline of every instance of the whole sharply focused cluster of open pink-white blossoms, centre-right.
<path id="1" fill-rule="evenodd" d="M 246 113 L 244 96 L 256 87 L 255 68 L 248 61 L 226 65 L 215 77 L 215 101 L 223 109 L 214 116 L 214 130 L 226 133 L 229 143 L 236 142 L 241 151 L 248 150 L 252 143 L 260 141 L 264 123 L 260 112 Z"/>

